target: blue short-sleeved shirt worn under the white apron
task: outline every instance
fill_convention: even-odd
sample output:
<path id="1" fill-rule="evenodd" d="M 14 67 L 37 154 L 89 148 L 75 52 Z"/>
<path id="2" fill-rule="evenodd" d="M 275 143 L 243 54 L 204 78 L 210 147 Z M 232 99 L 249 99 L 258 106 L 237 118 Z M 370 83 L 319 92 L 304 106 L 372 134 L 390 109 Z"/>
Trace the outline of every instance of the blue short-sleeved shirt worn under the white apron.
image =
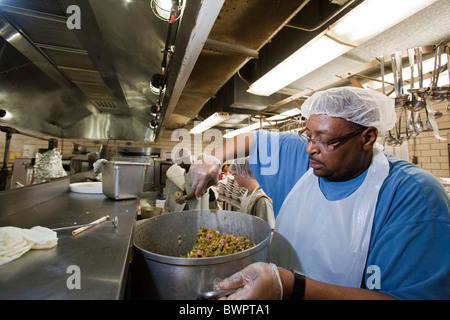
<path id="1" fill-rule="evenodd" d="M 272 198 L 275 216 L 309 169 L 306 145 L 295 133 L 254 134 L 250 167 Z M 366 267 L 376 266 L 381 274 L 380 289 L 375 290 L 400 299 L 449 299 L 449 197 L 432 174 L 393 156 L 387 159 L 390 172 L 378 195 L 366 262 Z M 366 174 L 346 182 L 319 178 L 320 189 L 328 200 L 343 199 Z M 363 288 L 370 270 L 362 279 Z"/>

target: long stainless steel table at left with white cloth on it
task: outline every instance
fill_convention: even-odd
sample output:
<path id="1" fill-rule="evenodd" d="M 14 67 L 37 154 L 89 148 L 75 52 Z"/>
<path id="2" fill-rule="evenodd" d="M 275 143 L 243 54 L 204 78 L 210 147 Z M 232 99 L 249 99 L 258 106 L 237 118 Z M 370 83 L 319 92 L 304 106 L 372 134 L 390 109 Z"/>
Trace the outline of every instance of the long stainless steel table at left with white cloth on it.
<path id="1" fill-rule="evenodd" d="M 72 230 L 58 231 L 56 247 L 30 250 L 1 265 L 0 299 L 123 298 L 139 199 L 116 201 L 102 194 L 73 193 L 68 181 L 57 183 L 63 188 L 58 196 L 3 216 L 0 226 L 57 228 L 109 215 L 118 217 L 118 227 L 102 224 L 76 236 Z M 67 286 L 72 265 L 80 268 L 81 289 Z"/>

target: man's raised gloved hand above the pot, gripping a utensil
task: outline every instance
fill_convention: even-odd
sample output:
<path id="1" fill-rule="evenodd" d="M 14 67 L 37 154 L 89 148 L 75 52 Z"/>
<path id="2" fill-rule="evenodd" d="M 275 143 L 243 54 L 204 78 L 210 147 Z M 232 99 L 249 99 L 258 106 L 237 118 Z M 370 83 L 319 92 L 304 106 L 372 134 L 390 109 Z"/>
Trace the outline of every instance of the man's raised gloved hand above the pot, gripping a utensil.
<path id="1" fill-rule="evenodd" d="M 220 165 L 220 161 L 211 155 L 202 155 L 200 159 L 191 164 L 189 168 L 191 187 L 197 198 L 219 181 Z"/>

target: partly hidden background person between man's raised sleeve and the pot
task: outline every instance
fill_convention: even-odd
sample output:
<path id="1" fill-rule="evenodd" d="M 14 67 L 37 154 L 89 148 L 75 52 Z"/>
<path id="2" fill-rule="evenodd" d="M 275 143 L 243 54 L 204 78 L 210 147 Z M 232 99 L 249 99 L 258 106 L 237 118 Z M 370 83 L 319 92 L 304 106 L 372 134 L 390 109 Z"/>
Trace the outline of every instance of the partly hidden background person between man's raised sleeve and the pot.
<path id="1" fill-rule="evenodd" d="M 270 199 L 259 186 L 248 163 L 248 157 L 236 159 L 231 163 L 230 172 L 240 187 L 247 191 L 241 201 L 241 212 L 260 217 L 269 223 L 272 230 L 275 228 L 272 199 Z"/>

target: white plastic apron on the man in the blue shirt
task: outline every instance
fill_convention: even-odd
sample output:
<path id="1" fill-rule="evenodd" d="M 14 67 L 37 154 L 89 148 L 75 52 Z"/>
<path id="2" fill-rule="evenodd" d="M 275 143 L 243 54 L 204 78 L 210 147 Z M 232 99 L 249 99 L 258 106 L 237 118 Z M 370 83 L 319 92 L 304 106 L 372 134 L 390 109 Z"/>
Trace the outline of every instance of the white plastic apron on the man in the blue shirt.
<path id="1" fill-rule="evenodd" d="M 367 259 L 378 192 L 389 174 L 382 151 L 362 185 L 349 197 L 329 201 L 310 169 L 297 182 L 275 223 L 272 262 L 325 283 L 360 287 Z"/>

